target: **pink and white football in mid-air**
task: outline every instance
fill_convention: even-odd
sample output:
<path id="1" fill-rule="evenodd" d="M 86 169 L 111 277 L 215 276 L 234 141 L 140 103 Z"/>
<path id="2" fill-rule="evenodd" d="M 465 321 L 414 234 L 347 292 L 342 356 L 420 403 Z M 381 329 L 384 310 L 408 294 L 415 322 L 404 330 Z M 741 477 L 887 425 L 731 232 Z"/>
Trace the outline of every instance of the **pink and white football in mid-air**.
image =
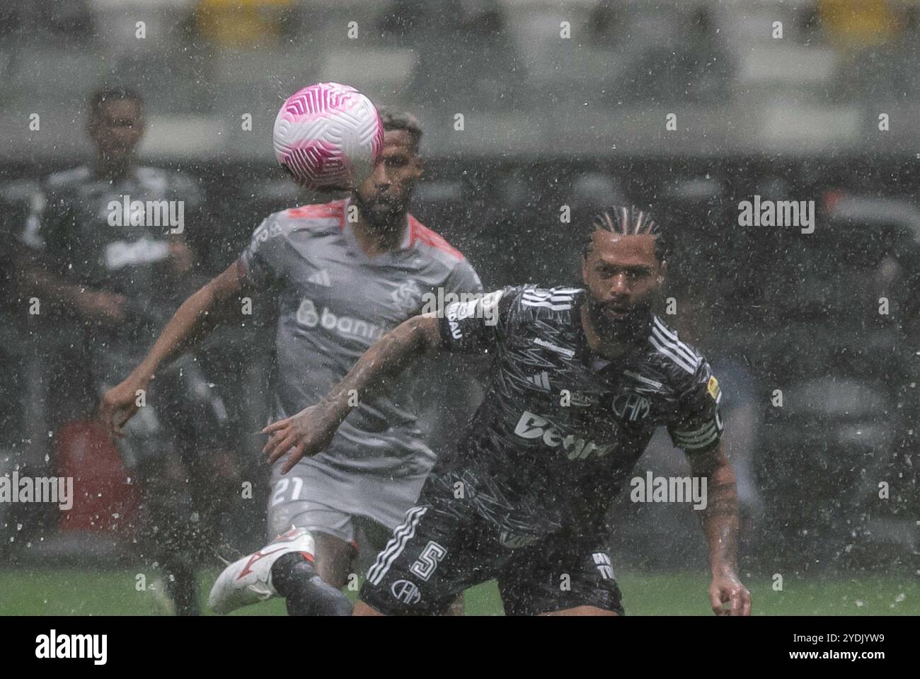
<path id="1" fill-rule="evenodd" d="M 281 166 L 307 189 L 353 189 L 380 160 L 384 126 L 354 87 L 317 83 L 284 101 L 272 144 Z"/>

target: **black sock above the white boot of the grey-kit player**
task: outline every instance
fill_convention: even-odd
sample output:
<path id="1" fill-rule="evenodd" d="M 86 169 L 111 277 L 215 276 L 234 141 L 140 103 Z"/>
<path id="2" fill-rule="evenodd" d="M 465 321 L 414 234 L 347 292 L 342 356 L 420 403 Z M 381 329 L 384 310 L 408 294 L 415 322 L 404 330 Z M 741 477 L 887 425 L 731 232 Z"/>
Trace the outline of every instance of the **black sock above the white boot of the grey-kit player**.
<path id="1" fill-rule="evenodd" d="M 275 561 L 271 584 L 284 597 L 289 616 L 351 616 L 348 597 L 316 575 L 302 554 L 292 552 Z"/>

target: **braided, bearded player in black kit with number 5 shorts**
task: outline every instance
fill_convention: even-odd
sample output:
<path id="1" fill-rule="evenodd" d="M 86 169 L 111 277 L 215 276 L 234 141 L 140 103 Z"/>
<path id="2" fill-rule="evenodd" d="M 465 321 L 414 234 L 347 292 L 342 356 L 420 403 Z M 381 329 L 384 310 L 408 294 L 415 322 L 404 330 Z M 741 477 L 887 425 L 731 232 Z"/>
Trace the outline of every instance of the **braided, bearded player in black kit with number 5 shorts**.
<path id="1" fill-rule="evenodd" d="M 508 615 L 622 615 L 604 518 L 660 425 L 707 481 L 712 609 L 750 614 L 719 382 L 652 313 L 665 270 L 650 214 L 607 208 L 585 236 L 583 288 L 510 287 L 410 318 L 324 401 L 266 427 L 266 455 L 290 467 L 325 447 L 352 389 L 362 397 L 424 351 L 494 355 L 485 400 L 368 570 L 355 615 L 442 613 L 493 578 Z"/>

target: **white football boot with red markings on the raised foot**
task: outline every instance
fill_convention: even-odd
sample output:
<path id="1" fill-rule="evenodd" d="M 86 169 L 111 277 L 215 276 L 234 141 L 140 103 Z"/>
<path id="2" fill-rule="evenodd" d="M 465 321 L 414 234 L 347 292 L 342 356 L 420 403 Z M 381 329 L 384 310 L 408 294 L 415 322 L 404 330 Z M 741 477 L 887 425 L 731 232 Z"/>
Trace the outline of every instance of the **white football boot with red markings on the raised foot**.
<path id="1" fill-rule="evenodd" d="M 217 576 L 211 594 L 208 595 L 211 610 L 219 616 L 224 616 L 242 606 L 258 604 L 277 596 L 278 593 L 271 585 L 271 566 L 278 558 L 291 552 L 309 555 L 307 560 L 312 563 L 313 535 L 305 528 L 292 528 L 258 552 L 227 566 L 224 572 Z"/>

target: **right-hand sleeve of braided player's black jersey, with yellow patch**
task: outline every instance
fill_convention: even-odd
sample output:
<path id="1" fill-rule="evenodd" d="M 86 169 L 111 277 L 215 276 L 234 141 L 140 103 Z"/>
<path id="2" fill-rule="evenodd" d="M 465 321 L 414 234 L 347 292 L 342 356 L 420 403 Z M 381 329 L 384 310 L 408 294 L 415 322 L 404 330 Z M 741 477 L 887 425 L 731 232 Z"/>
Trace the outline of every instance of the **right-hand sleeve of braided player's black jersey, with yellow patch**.
<path id="1" fill-rule="evenodd" d="M 678 396 L 678 408 L 668 423 L 674 445 L 685 453 L 704 452 L 719 443 L 722 419 L 719 404 L 722 390 L 706 360 L 696 366 L 696 373 Z"/>

